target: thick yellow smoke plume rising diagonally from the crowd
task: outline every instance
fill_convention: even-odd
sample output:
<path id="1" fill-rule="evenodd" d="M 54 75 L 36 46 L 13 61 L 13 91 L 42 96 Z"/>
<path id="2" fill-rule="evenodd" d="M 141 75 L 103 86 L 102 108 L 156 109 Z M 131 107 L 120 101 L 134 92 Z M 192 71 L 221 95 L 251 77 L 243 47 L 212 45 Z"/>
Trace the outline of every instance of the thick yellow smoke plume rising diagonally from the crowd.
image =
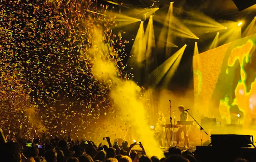
<path id="1" fill-rule="evenodd" d="M 92 72 L 96 79 L 103 83 L 112 84 L 110 97 L 114 106 L 121 110 L 122 118 L 136 131 L 147 155 L 163 157 L 163 151 L 154 139 L 154 132 L 147 124 L 145 107 L 139 98 L 141 88 L 133 81 L 124 81 L 117 76 L 117 68 L 109 55 L 113 52 L 104 44 L 103 35 L 98 29 L 94 29 L 93 48 L 90 49 L 92 57 Z"/>

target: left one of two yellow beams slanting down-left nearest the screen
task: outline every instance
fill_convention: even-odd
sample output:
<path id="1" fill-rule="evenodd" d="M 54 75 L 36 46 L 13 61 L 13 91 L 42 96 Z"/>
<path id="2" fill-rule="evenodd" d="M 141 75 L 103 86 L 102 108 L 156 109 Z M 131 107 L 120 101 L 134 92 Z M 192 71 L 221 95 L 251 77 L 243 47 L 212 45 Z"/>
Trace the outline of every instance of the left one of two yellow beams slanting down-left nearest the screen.
<path id="1" fill-rule="evenodd" d="M 184 45 L 181 49 L 179 49 L 176 53 L 169 57 L 164 63 L 157 67 L 151 74 L 149 74 L 149 84 L 155 86 L 163 79 L 163 77 L 168 72 L 170 67 L 173 65 L 174 61 L 178 58 L 180 53 L 184 52 L 185 47 L 186 45 Z"/>

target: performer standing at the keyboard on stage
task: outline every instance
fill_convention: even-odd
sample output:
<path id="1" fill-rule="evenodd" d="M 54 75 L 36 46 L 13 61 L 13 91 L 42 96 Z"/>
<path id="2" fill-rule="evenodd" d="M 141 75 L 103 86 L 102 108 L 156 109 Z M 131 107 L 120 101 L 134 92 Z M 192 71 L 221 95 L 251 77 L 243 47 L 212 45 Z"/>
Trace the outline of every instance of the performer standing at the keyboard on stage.
<path id="1" fill-rule="evenodd" d="M 184 106 L 179 106 L 178 108 L 179 108 L 179 111 L 181 112 L 180 121 L 187 121 L 188 113 L 184 111 Z M 183 125 L 182 127 L 180 127 L 176 133 L 177 146 L 179 146 L 179 136 L 180 136 L 181 132 L 184 133 L 184 139 L 187 142 L 187 146 L 189 147 L 189 140 L 188 140 L 188 136 L 187 136 L 187 126 L 186 125 Z"/>

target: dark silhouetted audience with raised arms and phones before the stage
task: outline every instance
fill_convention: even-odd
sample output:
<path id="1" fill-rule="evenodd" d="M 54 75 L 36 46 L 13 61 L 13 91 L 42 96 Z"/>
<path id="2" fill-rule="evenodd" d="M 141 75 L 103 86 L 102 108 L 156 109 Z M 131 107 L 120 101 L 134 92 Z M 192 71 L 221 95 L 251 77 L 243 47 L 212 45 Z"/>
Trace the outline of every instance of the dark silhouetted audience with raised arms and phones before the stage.
<path id="1" fill-rule="evenodd" d="M 109 137 L 105 140 L 109 146 L 92 141 L 73 140 L 70 134 L 66 137 L 48 138 L 45 134 L 32 139 L 10 138 L 4 136 L 1 130 L 0 161 L 1 162 L 196 162 L 196 158 L 189 150 L 170 147 L 164 152 L 165 157 L 149 157 L 146 155 L 142 143 L 128 146 L 124 141 L 121 146 L 111 144 Z M 132 148 L 139 144 L 141 155 Z M 247 162 L 238 159 L 236 162 Z"/>

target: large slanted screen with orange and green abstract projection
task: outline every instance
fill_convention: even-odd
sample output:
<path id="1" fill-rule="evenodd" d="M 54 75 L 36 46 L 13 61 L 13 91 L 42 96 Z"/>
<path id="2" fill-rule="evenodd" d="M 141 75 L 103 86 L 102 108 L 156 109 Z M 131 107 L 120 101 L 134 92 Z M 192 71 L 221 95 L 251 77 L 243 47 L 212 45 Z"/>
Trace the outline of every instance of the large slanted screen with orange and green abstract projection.
<path id="1" fill-rule="evenodd" d="M 249 126 L 256 118 L 256 34 L 193 57 L 200 117 Z"/>

